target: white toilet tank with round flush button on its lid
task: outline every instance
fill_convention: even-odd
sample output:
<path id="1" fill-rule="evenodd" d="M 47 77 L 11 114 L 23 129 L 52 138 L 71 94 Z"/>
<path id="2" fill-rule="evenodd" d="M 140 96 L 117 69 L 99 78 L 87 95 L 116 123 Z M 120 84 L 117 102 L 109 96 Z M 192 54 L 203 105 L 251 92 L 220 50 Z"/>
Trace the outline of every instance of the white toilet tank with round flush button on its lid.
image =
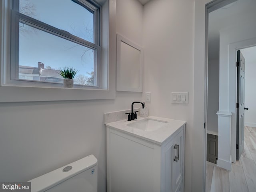
<path id="1" fill-rule="evenodd" d="M 89 155 L 52 172 L 34 178 L 31 192 L 97 192 L 98 164 Z"/>

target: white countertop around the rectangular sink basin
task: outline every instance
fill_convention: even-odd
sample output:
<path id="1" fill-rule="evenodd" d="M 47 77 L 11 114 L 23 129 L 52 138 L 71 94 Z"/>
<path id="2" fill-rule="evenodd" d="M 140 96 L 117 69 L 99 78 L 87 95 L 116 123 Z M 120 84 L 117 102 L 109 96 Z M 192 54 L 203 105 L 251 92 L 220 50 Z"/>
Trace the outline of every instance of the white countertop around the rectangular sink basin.
<path id="1" fill-rule="evenodd" d="M 166 121 L 167 123 L 164 126 L 161 126 L 158 130 L 150 131 L 150 132 L 140 130 L 131 126 L 127 126 L 127 124 L 140 121 L 143 119 L 147 119 L 147 118 Z M 146 118 L 142 118 L 139 116 L 137 120 L 132 120 L 132 121 L 121 120 L 117 122 L 108 123 L 106 124 L 106 126 L 161 145 L 165 140 L 170 138 L 172 134 L 176 132 L 184 124 L 186 124 L 186 122 L 181 120 L 174 120 L 174 119 L 161 118 L 161 117 L 155 117 L 155 116 L 148 116 Z"/>

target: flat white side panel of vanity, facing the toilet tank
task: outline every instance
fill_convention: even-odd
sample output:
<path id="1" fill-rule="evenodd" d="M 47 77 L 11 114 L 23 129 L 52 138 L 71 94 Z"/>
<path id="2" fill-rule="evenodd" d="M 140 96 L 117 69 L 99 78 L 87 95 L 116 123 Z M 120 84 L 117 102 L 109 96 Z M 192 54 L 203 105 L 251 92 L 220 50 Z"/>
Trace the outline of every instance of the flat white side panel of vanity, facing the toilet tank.
<path id="1" fill-rule="evenodd" d="M 154 161 L 154 144 L 111 130 L 107 147 L 108 192 L 159 191 L 160 184 L 156 189 L 158 181 L 154 179 L 157 175 L 160 183 L 160 174 L 155 172 L 159 166 Z"/>

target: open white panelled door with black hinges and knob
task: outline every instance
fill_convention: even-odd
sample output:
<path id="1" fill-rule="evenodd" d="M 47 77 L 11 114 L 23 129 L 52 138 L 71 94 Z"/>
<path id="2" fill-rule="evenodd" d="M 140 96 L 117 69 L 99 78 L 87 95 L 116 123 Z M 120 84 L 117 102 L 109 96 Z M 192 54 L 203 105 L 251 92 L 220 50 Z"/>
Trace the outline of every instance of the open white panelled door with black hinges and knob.
<path id="1" fill-rule="evenodd" d="M 237 51 L 236 160 L 244 150 L 244 56 Z M 248 110 L 248 109 L 247 109 Z"/>

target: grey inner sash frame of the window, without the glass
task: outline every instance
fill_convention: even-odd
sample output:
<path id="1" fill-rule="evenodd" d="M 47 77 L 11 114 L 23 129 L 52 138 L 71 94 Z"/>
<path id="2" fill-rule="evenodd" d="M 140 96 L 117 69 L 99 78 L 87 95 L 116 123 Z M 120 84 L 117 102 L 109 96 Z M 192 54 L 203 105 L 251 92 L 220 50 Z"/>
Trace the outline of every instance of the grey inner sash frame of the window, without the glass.
<path id="1" fill-rule="evenodd" d="M 24 85 L 24 86 L 39 86 L 39 87 L 61 87 L 62 84 L 54 82 L 42 82 L 35 80 L 19 79 L 19 22 L 28 26 L 48 32 L 54 36 L 64 38 L 76 44 L 93 49 L 94 54 L 94 85 L 90 87 L 100 87 L 100 6 L 90 4 L 86 0 L 72 0 L 87 10 L 94 12 L 94 43 L 79 38 L 64 30 L 60 30 L 54 26 L 26 16 L 19 12 L 19 0 L 12 0 L 11 10 L 11 73 L 8 78 L 8 84 Z M 86 85 L 74 85 L 74 88 L 86 88 Z"/>

